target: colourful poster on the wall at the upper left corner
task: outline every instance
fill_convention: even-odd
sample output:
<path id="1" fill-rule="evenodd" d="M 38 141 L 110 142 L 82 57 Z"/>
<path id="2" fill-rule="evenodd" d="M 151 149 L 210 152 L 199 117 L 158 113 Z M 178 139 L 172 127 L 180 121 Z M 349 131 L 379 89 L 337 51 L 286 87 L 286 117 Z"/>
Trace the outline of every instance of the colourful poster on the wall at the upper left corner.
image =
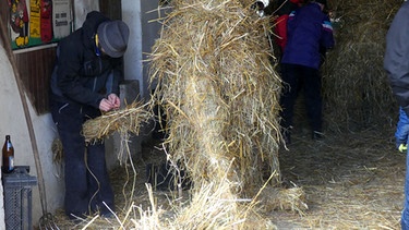
<path id="1" fill-rule="evenodd" d="M 72 31 L 70 0 L 8 0 L 12 49 L 57 43 Z"/>

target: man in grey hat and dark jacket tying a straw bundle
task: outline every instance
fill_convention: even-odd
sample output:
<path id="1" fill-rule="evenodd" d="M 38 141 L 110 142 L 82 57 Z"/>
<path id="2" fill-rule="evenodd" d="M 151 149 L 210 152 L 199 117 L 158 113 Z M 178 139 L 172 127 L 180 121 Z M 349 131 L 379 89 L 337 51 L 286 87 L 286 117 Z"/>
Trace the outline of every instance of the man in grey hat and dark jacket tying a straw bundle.
<path id="1" fill-rule="evenodd" d="M 81 28 L 57 48 L 50 83 L 50 110 L 64 152 L 65 214 L 74 219 L 115 210 L 103 142 L 85 143 L 87 119 L 120 107 L 121 57 L 129 27 L 93 11 Z"/>

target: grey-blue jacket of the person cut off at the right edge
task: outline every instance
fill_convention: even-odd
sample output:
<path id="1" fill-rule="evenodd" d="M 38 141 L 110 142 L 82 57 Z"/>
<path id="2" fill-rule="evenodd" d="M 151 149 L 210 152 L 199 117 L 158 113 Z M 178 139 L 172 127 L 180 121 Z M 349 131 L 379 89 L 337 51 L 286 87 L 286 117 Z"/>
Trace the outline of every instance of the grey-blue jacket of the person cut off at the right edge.
<path id="1" fill-rule="evenodd" d="M 393 94 L 409 116 L 409 1 L 404 2 L 386 35 L 384 68 Z"/>

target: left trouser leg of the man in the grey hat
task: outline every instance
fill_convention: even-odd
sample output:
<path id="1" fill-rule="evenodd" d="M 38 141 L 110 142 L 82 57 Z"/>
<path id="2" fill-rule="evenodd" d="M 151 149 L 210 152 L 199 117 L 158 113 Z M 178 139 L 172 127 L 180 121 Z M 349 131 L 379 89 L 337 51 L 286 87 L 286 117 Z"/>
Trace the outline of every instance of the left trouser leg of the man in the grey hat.
<path id="1" fill-rule="evenodd" d="M 51 102 L 50 108 L 64 152 L 65 214 L 84 217 L 89 211 L 81 106 Z"/>

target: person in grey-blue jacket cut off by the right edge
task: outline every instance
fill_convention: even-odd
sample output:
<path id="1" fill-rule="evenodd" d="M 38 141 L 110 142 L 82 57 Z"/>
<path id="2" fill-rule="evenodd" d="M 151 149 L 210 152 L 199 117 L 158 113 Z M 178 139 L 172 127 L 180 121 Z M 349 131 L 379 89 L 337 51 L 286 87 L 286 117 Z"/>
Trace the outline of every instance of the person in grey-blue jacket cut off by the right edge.
<path id="1" fill-rule="evenodd" d="M 396 147 L 406 154 L 409 137 L 409 2 L 405 1 L 386 35 L 384 69 L 392 92 L 399 105 L 399 121 L 395 133 Z M 406 158 L 405 202 L 401 229 L 409 230 L 409 158 Z"/>

